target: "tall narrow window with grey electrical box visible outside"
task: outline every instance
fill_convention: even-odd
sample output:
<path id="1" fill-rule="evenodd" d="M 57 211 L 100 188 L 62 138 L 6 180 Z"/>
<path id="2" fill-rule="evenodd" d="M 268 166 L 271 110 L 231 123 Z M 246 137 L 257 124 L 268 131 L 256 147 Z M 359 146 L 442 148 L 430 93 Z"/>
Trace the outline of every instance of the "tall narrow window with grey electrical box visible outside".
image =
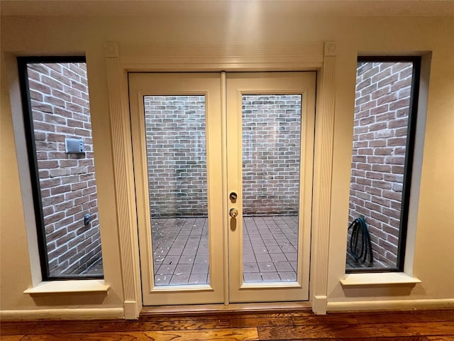
<path id="1" fill-rule="evenodd" d="M 43 280 L 102 278 L 85 58 L 18 58 Z"/>

